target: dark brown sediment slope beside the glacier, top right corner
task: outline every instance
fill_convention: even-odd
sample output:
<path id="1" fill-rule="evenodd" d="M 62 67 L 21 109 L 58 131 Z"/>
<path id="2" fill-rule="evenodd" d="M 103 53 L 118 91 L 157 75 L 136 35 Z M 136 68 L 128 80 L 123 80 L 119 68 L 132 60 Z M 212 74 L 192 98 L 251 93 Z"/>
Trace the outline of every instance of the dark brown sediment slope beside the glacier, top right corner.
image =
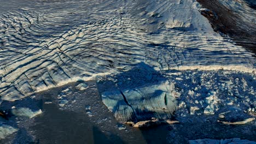
<path id="1" fill-rule="evenodd" d="M 202 8 L 209 9 L 217 14 L 217 18 L 204 15 L 210 21 L 214 31 L 229 35 L 237 45 L 256 53 L 256 25 L 243 21 L 240 15 L 235 14 L 231 9 L 214 0 L 197 0 Z M 247 2 L 250 3 L 250 2 Z M 253 3 L 248 4 L 255 9 Z"/>

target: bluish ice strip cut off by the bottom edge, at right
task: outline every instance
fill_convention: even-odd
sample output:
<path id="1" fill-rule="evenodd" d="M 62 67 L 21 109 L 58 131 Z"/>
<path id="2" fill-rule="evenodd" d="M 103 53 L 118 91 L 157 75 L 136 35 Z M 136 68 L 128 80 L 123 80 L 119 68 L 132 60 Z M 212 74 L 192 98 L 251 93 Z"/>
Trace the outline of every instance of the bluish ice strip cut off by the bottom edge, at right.
<path id="1" fill-rule="evenodd" d="M 199 140 L 190 140 L 190 144 L 253 144 L 256 143 L 254 141 L 249 141 L 249 140 L 241 140 L 239 138 L 234 138 L 234 139 L 225 139 L 225 140 L 212 140 L 212 139 L 199 139 Z"/>

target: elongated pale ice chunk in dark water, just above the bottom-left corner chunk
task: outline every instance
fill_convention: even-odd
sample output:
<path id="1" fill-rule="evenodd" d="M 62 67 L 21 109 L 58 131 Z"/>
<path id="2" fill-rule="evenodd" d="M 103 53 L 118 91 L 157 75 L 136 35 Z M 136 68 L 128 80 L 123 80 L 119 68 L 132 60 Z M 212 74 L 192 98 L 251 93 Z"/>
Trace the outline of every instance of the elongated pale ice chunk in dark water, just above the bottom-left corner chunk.
<path id="1" fill-rule="evenodd" d="M 15 116 L 32 118 L 32 117 L 37 116 L 40 113 L 42 113 L 42 111 L 40 109 L 37 111 L 32 111 L 31 109 L 29 109 L 27 107 L 21 107 L 21 108 L 17 108 L 17 109 L 12 109 L 11 113 L 13 113 L 13 115 L 15 115 Z"/>

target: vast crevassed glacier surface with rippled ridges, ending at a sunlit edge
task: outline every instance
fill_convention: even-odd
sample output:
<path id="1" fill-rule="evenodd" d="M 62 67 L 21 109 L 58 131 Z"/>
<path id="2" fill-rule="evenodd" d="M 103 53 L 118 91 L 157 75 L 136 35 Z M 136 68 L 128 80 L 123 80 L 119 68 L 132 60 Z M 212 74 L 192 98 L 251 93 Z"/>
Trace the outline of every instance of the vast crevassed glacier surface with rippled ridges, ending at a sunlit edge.
<path id="1" fill-rule="evenodd" d="M 140 62 L 156 70 L 254 73 L 253 54 L 214 33 L 195 1 L 79 2 L 40 1 L 1 13 L 2 100 Z"/>

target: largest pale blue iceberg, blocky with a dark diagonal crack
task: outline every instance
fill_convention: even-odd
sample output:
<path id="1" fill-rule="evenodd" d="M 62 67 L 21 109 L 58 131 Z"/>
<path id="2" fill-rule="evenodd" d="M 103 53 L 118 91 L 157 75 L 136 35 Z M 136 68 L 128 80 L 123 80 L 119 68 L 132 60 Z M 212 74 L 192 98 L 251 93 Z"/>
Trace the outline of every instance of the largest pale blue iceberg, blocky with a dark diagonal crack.
<path id="1" fill-rule="evenodd" d="M 102 101 L 119 121 L 140 121 L 154 116 L 170 119 L 177 105 L 172 96 L 173 89 L 174 85 L 168 82 L 144 85 L 123 91 L 104 92 Z"/>

